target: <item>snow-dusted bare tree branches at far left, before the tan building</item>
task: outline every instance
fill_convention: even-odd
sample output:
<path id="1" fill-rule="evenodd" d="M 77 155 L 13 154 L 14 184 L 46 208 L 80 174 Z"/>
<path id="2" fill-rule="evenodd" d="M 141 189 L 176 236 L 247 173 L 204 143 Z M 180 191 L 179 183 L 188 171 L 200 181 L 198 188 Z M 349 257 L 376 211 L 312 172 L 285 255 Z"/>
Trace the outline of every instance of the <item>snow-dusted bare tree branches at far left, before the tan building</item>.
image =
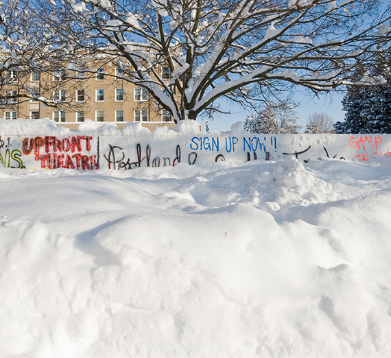
<path id="1" fill-rule="evenodd" d="M 60 108 L 77 106 L 71 97 L 56 96 L 59 84 L 69 87 L 72 82 L 62 64 L 76 58 L 73 47 L 32 11 L 34 1 L 0 5 L 0 108 L 30 99 Z M 58 81 L 52 80 L 56 76 Z"/>

